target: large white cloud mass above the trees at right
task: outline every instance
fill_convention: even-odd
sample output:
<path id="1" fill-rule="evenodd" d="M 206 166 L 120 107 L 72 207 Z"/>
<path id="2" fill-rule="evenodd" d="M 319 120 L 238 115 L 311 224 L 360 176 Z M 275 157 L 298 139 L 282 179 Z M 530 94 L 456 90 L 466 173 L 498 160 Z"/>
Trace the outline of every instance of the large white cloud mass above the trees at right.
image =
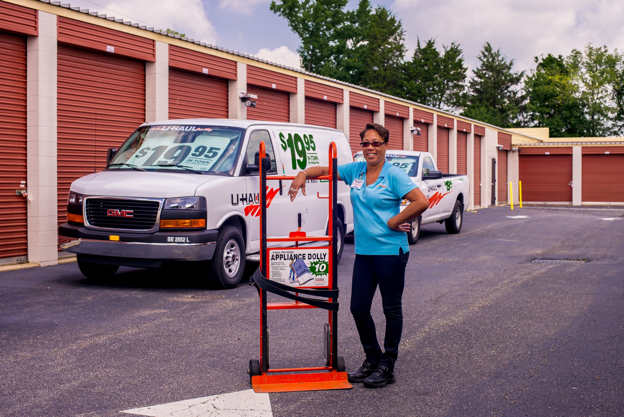
<path id="1" fill-rule="evenodd" d="M 417 36 L 436 37 L 438 44 L 461 44 L 470 68 L 485 41 L 514 59 L 516 71 L 533 68 L 535 56 L 566 56 L 587 42 L 610 51 L 624 44 L 619 0 L 395 0 L 391 9 L 407 31 L 409 57 Z"/>

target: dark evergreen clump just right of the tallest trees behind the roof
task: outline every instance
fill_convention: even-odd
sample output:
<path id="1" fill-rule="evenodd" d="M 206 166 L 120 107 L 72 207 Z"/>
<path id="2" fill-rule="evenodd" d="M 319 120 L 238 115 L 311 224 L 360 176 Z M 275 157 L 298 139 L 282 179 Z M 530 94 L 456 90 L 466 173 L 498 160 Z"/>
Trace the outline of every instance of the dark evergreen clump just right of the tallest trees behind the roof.
<path id="1" fill-rule="evenodd" d="M 420 39 L 411 61 L 403 66 L 404 98 L 439 109 L 456 110 L 466 87 L 464 57 L 459 44 L 436 47 L 434 38 L 421 46 Z"/>

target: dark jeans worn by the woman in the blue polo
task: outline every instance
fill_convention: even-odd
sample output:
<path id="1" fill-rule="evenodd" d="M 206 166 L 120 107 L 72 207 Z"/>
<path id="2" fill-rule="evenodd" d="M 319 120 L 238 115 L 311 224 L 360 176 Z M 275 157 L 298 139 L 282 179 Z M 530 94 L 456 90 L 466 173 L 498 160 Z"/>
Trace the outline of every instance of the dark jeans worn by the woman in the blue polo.
<path id="1" fill-rule="evenodd" d="M 351 285 L 351 314 L 358 328 L 366 360 L 394 369 L 403 331 L 401 298 L 409 252 L 399 255 L 355 255 Z M 379 285 L 381 304 L 386 315 L 386 337 L 382 353 L 377 341 L 371 304 Z"/>

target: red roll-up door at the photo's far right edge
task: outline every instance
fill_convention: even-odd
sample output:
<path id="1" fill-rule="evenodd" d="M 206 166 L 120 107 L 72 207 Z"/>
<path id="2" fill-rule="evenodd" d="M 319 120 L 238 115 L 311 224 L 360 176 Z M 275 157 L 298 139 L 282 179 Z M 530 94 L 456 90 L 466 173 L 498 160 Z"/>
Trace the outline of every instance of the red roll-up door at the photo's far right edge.
<path id="1" fill-rule="evenodd" d="M 621 149 L 624 150 L 624 147 Z M 624 202 L 624 154 L 583 154 L 582 167 L 583 203 Z"/>

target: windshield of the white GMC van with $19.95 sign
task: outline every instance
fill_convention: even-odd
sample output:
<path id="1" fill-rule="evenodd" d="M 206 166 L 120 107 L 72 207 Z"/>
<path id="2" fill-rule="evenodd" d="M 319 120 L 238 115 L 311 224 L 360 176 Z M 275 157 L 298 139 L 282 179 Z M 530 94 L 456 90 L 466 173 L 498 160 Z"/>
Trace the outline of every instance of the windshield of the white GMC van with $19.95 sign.
<path id="1" fill-rule="evenodd" d="M 245 129 L 228 126 L 154 125 L 135 130 L 110 169 L 177 169 L 197 174 L 234 174 Z"/>

